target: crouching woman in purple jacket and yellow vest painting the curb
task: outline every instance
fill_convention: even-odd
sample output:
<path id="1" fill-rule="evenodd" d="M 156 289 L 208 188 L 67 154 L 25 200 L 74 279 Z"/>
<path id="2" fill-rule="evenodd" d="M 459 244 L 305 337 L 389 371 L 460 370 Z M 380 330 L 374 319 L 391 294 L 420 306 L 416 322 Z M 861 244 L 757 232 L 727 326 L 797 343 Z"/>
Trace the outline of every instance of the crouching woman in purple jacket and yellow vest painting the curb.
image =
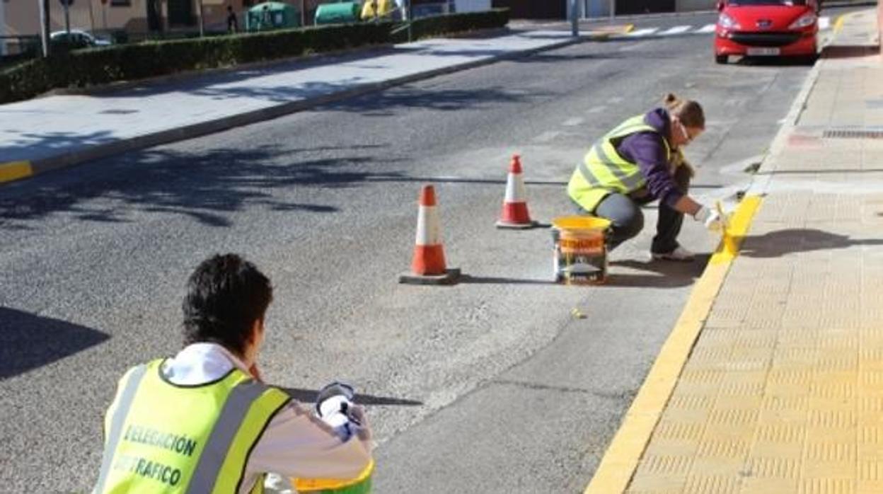
<path id="1" fill-rule="evenodd" d="M 693 170 L 682 148 L 703 133 L 705 126 L 699 103 L 667 95 L 665 108 L 627 119 L 589 149 L 573 172 L 567 192 L 581 213 L 612 222 L 611 249 L 644 228 L 640 206 L 651 201 L 660 201 L 650 249 L 653 259 L 693 259 L 677 243 L 685 214 L 711 230 L 721 227 L 723 218 L 717 211 L 687 194 Z"/>

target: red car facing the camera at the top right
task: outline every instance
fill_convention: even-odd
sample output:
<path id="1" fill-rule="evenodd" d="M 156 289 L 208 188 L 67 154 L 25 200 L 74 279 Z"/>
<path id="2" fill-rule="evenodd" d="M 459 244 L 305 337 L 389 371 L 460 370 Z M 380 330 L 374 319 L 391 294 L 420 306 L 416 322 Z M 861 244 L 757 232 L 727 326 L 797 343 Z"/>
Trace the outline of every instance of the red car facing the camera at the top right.
<path id="1" fill-rule="evenodd" d="M 819 0 L 719 0 L 714 61 L 730 55 L 815 60 Z"/>

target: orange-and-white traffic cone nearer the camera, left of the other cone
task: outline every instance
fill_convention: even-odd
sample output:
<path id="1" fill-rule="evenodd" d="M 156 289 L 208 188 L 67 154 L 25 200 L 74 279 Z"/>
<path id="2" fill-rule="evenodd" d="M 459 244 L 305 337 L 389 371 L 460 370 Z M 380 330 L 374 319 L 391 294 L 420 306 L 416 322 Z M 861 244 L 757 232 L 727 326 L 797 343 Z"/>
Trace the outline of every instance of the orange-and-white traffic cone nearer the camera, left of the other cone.
<path id="1" fill-rule="evenodd" d="M 435 188 L 423 186 L 417 217 L 417 240 L 411 273 L 401 275 L 399 283 L 450 285 L 457 282 L 460 270 L 449 270 L 444 261 L 442 232 L 435 210 Z"/>

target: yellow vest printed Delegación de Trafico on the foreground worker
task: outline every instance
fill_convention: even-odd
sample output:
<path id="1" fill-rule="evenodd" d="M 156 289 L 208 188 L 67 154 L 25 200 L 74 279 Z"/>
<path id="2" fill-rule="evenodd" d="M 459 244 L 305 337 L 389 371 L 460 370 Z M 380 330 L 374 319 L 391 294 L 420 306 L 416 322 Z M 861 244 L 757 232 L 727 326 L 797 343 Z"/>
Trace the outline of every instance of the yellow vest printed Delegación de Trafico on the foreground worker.
<path id="1" fill-rule="evenodd" d="M 94 492 L 238 492 L 253 446 L 289 396 L 238 369 L 196 386 L 170 384 L 161 369 L 152 361 L 121 380 Z M 259 480 L 252 492 L 262 490 Z"/>

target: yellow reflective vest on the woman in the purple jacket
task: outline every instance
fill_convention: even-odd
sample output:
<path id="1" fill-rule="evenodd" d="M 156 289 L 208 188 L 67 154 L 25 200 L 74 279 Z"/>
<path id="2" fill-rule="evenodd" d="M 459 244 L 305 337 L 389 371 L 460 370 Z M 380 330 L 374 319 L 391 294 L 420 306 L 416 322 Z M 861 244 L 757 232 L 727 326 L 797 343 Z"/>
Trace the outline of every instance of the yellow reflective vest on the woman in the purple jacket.
<path id="1" fill-rule="evenodd" d="M 652 125 L 645 123 L 644 115 L 638 115 L 617 125 L 596 142 L 570 176 L 567 184 L 570 199 L 586 211 L 593 212 L 608 194 L 630 194 L 645 186 L 646 180 L 638 164 L 619 156 L 613 144 L 614 140 L 639 132 L 659 133 Z M 671 148 L 668 140 L 663 137 L 662 143 L 666 150 L 666 161 L 669 161 Z"/>

